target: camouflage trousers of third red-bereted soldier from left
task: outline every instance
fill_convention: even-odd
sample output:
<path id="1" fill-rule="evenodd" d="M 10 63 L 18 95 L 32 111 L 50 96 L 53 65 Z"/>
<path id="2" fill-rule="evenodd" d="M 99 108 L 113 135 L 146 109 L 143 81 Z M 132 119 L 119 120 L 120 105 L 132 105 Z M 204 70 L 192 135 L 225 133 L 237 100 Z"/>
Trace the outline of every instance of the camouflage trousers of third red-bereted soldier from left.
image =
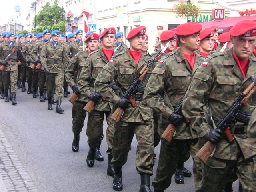
<path id="1" fill-rule="evenodd" d="M 138 142 L 136 149 L 136 170 L 138 174 L 153 174 L 154 156 L 154 122 L 118 122 L 114 124 L 113 138 L 114 167 L 121 167 L 127 161 L 127 156 L 134 134 Z"/>

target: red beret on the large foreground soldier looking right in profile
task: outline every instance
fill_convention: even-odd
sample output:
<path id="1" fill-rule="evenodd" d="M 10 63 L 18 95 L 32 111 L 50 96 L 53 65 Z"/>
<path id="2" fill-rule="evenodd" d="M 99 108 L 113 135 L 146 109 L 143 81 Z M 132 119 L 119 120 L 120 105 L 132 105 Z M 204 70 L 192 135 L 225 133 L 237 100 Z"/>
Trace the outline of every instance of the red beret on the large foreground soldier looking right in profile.
<path id="1" fill-rule="evenodd" d="M 175 34 L 178 36 L 190 36 L 199 33 L 200 30 L 202 30 L 200 23 L 190 22 L 179 25 L 175 30 Z"/>

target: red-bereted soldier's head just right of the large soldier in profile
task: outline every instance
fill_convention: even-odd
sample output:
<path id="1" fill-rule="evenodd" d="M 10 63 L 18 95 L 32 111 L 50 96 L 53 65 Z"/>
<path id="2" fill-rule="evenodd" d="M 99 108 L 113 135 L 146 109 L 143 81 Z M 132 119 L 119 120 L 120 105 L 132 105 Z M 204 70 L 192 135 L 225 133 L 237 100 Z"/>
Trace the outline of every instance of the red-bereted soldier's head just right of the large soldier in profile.
<path id="1" fill-rule="evenodd" d="M 214 29 L 207 28 L 200 31 L 199 34 L 200 46 L 196 54 L 200 54 L 204 58 L 208 57 L 212 53 L 212 48 L 214 44 Z"/>

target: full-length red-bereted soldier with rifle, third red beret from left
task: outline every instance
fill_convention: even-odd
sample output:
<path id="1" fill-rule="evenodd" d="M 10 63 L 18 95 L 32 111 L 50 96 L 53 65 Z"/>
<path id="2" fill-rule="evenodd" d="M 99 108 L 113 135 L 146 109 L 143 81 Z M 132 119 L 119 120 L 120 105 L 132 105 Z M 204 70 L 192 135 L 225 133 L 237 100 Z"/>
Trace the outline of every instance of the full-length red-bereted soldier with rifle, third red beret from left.
<path id="1" fill-rule="evenodd" d="M 145 33 L 146 27 L 144 26 L 132 29 L 127 36 L 127 40 L 130 42 L 129 50 L 113 56 L 95 82 L 96 92 L 112 102 L 115 106 L 114 109 L 117 106 L 124 109 L 121 120 L 118 123 L 114 122 L 112 163 L 114 165 L 113 189 L 116 191 L 123 189 L 122 166 L 127 161 L 129 147 L 135 134 L 138 141 L 136 169 L 141 179 L 140 192 L 151 192 L 150 176 L 153 174 L 154 154 L 153 115 L 152 110 L 146 106 L 143 100 L 143 91 L 141 91 L 146 86 L 151 73 L 147 73 L 140 82 L 140 92 L 132 95 L 136 102 L 134 107 L 131 106 L 129 100 L 122 97 L 122 94 L 116 95 L 109 85 L 115 80 L 122 93 L 125 93 L 145 62 L 150 60 L 150 55 L 141 52 L 146 40 Z M 150 71 L 152 68 L 154 66 L 150 66 Z"/>

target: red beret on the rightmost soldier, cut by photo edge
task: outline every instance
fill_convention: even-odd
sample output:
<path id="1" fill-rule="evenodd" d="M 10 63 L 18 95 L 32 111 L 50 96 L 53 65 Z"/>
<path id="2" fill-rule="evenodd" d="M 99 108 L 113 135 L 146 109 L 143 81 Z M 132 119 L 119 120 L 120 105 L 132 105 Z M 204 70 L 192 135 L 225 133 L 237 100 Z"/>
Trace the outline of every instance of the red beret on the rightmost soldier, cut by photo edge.
<path id="1" fill-rule="evenodd" d="M 256 22 L 251 20 L 243 20 L 236 23 L 230 29 L 230 35 L 237 37 L 237 36 L 256 36 Z"/>

